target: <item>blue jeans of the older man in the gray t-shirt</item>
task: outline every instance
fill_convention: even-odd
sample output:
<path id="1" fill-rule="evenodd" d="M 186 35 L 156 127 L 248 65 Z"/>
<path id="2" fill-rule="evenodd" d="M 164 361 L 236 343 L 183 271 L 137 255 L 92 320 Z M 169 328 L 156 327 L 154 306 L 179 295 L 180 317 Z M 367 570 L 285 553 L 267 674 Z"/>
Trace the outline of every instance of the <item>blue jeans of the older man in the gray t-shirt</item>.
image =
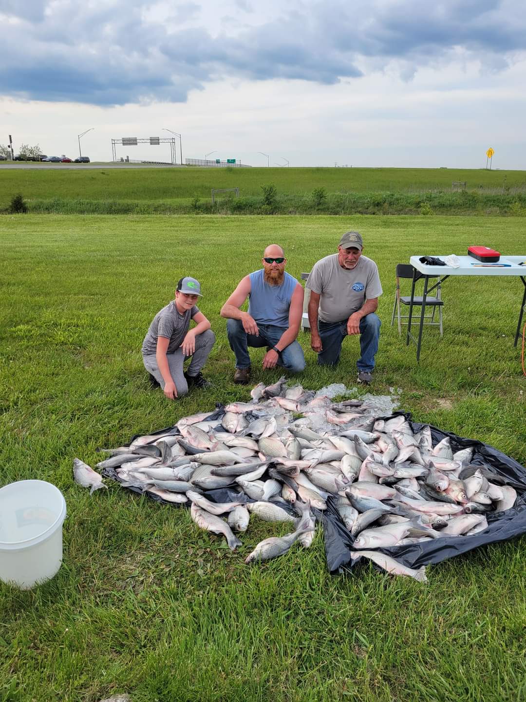
<path id="1" fill-rule="evenodd" d="M 375 367 L 375 355 L 380 338 L 379 317 L 374 312 L 360 319 L 360 352 L 356 362 L 358 371 L 372 371 Z M 318 333 L 323 351 L 318 354 L 318 364 L 334 366 L 339 361 L 342 342 L 347 336 L 347 320 L 343 322 L 322 322 L 318 319 Z"/>

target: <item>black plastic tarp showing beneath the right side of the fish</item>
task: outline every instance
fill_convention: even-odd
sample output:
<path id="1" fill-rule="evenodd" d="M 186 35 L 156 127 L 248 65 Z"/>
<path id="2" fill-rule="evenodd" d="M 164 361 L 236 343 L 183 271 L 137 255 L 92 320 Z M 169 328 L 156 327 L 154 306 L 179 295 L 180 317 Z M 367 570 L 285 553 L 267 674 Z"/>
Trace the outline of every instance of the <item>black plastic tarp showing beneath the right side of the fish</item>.
<path id="1" fill-rule="evenodd" d="M 404 414 L 414 432 L 424 427 L 424 424 L 412 422 L 410 414 Z M 458 437 L 436 427 L 431 427 L 431 437 L 433 446 L 445 437 L 450 437 L 453 451 L 473 446 L 471 464 L 490 465 L 494 472 L 504 477 L 506 484 L 517 491 L 515 506 L 506 512 L 487 512 L 487 529 L 473 536 L 444 536 L 421 543 L 381 548 L 379 551 L 396 558 L 407 567 L 418 568 L 429 563 L 440 563 L 446 558 L 461 555 L 488 543 L 506 541 L 513 536 L 526 534 L 526 469 L 513 458 L 480 441 Z M 327 566 L 331 573 L 338 574 L 352 569 L 361 559 L 351 561 L 353 538 L 340 519 L 335 503 L 336 498 L 330 496 L 322 523 Z"/>

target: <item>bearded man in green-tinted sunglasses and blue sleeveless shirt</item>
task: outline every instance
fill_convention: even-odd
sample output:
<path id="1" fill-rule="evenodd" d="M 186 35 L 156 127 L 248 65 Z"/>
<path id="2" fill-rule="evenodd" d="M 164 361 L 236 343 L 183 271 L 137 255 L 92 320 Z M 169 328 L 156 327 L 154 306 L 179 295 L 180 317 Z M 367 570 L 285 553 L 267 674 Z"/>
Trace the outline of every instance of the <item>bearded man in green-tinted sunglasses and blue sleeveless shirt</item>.
<path id="1" fill-rule="evenodd" d="M 296 338 L 302 322 L 303 287 L 285 273 L 283 249 L 271 244 L 264 250 L 263 267 L 246 275 L 224 303 L 221 316 L 228 319 L 227 333 L 236 355 L 234 383 L 250 381 L 248 347 L 267 347 L 265 370 L 275 366 L 292 373 L 305 367 L 302 347 Z M 248 312 L 241 307 L 248 298 Z"/>

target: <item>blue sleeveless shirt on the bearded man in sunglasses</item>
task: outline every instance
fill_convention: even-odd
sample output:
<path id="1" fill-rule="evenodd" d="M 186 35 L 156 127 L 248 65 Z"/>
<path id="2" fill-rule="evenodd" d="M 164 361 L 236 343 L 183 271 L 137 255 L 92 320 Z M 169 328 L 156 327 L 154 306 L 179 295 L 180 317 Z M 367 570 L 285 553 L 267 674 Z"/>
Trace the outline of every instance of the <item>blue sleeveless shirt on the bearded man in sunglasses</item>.
<path id="1" fill-rule="evenodd" d="M 281 285 L 269 285 L 265 282 L 263 268 L 250 273 L 249 277 L 248 314 L 254 317 L 257 324 L 273 324 L 288 329 L 290 298 L 297 280 L 285 272 Z"/>

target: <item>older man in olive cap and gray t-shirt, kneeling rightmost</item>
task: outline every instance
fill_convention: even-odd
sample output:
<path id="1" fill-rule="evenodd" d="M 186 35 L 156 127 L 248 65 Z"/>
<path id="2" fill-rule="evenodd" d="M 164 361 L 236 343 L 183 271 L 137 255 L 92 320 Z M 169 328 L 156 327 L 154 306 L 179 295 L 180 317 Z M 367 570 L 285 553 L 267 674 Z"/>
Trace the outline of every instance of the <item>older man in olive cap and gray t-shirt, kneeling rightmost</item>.
<path id="1" fill-rule="evenodd" d="M 358 382 L 369 384 L 380 336 L 375 312 L 382 284 L 376 263 L 362 252 L 361 234 L 346 232 L 338 253 L 314 264 L 305 287 L 311 289 L 311 347 L 318 354 L 318 364 L 337 364 L 344 338 L 359 334 Z"/>

